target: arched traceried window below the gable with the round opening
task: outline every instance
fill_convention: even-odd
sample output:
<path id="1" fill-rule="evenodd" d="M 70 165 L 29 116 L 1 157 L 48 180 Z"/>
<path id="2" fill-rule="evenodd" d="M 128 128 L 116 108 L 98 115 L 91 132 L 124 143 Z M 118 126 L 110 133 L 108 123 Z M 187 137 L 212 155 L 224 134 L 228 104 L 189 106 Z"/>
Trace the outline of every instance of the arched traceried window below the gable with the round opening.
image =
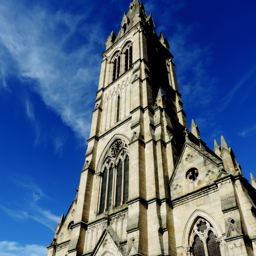
<path id="1" fill-rule="evenodd" d="M 198 219 L 190 236 L 193 256 L 221 256 L 216 236 L 214 228 L 207 220 Z"/>

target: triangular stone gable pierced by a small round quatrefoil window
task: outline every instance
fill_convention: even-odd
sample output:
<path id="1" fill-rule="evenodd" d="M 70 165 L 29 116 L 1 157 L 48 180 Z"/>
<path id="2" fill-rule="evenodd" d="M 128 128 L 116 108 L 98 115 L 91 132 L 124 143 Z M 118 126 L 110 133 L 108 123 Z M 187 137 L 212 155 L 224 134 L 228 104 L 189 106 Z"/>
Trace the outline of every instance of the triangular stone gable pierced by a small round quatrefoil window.
<path id="1" fill-rule="evenodd" d="M 170 180 L 172 199 L 213 183 L 222 162 L 192 142 L 186 142 Z"/>

